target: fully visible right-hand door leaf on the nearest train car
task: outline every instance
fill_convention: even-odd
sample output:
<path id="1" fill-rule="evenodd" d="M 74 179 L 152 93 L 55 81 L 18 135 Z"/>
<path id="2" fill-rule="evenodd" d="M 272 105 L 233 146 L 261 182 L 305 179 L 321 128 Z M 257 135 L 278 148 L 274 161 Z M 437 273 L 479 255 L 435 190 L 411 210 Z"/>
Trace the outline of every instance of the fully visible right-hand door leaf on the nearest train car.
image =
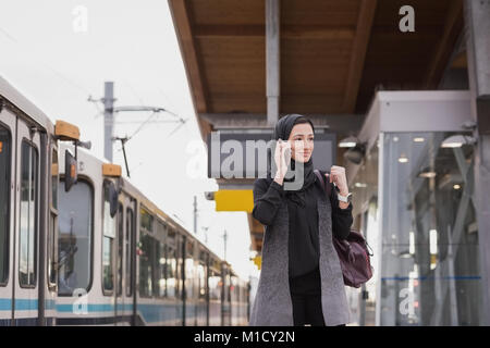
<path id="1" fill-rule="evenodd" d="M 14 237 L 14 322 L 36 325 L 38 316 L 39 133 L 17 120 Z"/>

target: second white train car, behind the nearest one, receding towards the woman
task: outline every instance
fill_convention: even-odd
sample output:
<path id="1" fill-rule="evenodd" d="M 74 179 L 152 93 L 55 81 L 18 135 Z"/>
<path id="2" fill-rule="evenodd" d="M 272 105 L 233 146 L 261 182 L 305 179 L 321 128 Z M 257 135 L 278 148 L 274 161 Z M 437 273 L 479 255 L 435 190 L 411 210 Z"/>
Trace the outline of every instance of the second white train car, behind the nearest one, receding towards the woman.
<path id="1" fill-rule="evenodd" d="M 63 156 L 71 147 L 61 147 Z M 231 325 L 232 270 L 157 208 L 121 167 L 79 151 L 59 188 L 58 324 Z M 87 223 L 89 222 L 89 223 Z M 238 291 L 238 290 L 237 290 Z M 242 303 L 248 306 L 246 289 Z M 246 324 L 247 312 L 235 324 Z"/>

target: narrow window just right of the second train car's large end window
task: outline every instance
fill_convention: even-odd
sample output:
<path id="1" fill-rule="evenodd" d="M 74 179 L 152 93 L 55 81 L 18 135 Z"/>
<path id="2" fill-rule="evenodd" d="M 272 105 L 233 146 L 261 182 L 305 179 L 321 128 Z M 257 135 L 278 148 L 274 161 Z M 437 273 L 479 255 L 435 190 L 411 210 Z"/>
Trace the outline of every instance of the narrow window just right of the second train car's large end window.
<path id="1" fill-rule="evenodd" d="M 111 293 L 114 289 L 114 238 L 117 221 L 111 216 L 110 182 L 103 183 L 103 240 L 102 240 L 102 289 Z"/>

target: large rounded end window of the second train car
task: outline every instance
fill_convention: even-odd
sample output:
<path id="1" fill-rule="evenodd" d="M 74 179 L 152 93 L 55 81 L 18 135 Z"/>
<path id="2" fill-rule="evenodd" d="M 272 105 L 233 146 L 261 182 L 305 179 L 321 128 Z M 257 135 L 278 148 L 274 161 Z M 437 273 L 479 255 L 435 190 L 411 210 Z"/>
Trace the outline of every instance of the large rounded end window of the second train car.
<path id="1" fill-rule="evenodd" d="M 63 181 L 58 185 L 58 295 L 71 296 L 90 286 L 94 191 L 79 178 L 69 192 Z"/>

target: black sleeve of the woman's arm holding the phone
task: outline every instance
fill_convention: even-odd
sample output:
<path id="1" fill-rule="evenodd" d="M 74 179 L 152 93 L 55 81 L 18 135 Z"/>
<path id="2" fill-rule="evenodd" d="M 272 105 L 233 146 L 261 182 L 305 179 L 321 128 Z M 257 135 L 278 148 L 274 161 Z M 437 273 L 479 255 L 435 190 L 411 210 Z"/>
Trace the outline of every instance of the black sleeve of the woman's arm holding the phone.
<path id="1" fill-rule="evenodd" d="M 254 209 L 252 215 L 264 225 L 272 224 L 275 213 L 284 199 L 284 189 L 274 181 L 269 185 L 266 179 L 254 183 Z"/>

